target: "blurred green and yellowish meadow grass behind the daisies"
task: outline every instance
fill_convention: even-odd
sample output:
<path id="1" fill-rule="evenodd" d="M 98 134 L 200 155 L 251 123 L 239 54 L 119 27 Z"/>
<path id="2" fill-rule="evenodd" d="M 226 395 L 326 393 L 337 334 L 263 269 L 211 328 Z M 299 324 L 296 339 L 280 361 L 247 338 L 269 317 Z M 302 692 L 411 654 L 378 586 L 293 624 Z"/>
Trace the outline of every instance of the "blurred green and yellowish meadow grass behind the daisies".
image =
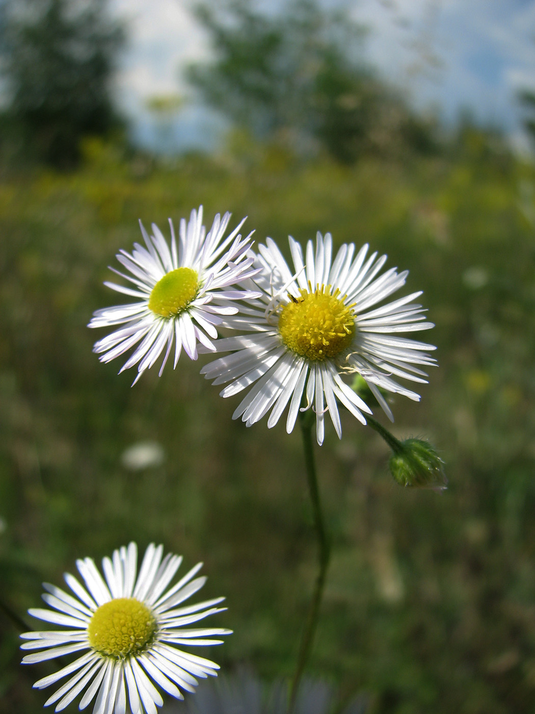
<path id="1" fill-rule="evenodd" d="M 472 131 L 450 156 L 403 164 L 303 164 L 248 146 L 165 165 L 86 145 L 83 169 L 0 179 L 0 597 L 19 615 L 41 580 L 134 539 L 204 560 L 235 630 L 213 656 L 265 679 L 290 675 L 315 577 L 300 436 L 246 429 L 185 357 L 175 373 L 117 376 L 91 352 L 93 310 L 136 221 L 166 233 L 200 203 L 205 223 L 248 214 L 257 241 L 369 241 L 437 326 L 439 368 L 422 402 L 394 405 L 394 433 L 427 436 L 447 463 L 442 496 L 399 488 L 387 451 L 344 416 L 317 451 L 335 538 L 309 673 L 372 695 L 374 713 L 511 714 L 535 695 L 535 170 Z M 201 362 L 201 361 L 200 361 Z M 380 418 L 380 417 L 379 417 Z M 157 441 L 161 466 L 121 453 Z M 29 619 L 29 618 L 27 618 Z M 34 625 L 31 625 L 32 627 Z M 0 613 L 0 710 L 41 710 Z"/>

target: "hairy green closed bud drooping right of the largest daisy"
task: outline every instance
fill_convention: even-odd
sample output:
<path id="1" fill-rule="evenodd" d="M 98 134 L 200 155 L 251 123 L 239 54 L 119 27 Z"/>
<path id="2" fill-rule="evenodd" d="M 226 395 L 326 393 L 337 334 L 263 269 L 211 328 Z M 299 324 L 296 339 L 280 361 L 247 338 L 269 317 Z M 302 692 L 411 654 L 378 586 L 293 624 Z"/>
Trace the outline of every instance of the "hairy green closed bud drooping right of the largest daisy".
<path id="1" fill-rule="evenodd" d="M 434 491 L 447 488 L 444 461 L 429 441 L 413 438 L 400 441 L 388 465 L 400 486 L 432 488 Z"/>

